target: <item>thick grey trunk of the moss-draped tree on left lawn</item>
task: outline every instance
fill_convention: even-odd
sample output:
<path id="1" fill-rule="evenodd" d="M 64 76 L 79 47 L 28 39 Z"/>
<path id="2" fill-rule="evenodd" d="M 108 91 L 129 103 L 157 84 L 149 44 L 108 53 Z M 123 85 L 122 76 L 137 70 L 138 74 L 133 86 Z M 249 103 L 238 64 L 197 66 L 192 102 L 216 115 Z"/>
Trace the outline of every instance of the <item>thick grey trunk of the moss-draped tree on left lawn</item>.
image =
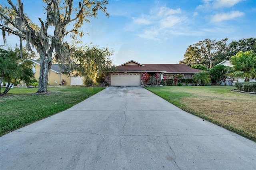
<path id="1" fill-rule="evenodd" d="M 47 92 L 48 72 L 51 68 L 51 65 L 52 65 L 51 57 L 49 57 L 49 55 L 41 54 L 39 84 L 38 84 L 38 90 L 36 93 Z"/>

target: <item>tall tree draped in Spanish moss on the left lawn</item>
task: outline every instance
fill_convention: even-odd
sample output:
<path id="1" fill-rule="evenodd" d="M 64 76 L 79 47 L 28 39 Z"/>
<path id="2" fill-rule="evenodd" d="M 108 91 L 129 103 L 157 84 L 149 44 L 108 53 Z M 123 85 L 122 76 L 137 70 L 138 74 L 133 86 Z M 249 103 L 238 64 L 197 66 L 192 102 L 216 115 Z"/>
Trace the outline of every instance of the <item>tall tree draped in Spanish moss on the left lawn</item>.
<path id="1" fill-rule="evenodd" d="M 11 0 L 7 0 L 8 5 L 0 6 L 1 23 L 0 29 L 4 41 L 6 42 L 6 32 L 20 37 L 20 40 L 26 40 L 27 48 L 31 44 L 34 46 L 40 56 L 40 77 L 37 93 L 47 92 L 48 71 L 52 65 L 52 57 L 56 61 L 62 63 L 71 63 L 69 57 L 69 45 L 63 42 L 64 36 L 72 34 L 83 36 L 84 33 L 79 28 L 84 22 L 89 22 L 89 18 L 96 18 L 99 10 L 104 12 L 106 16 L 105 5 L 108 1 L 94 0 L 43 0 L 46 4 L 46 21 L 43 22 L 38 18 L 40 28 L 33 24 L 26 16 L 23 10 L 23 3 L 17 0 L 17 4 L 13 4 Z M 17 8 L 18 7 L 18 8 Z M 73 24 L 73 26 L 71 26 Z M 70 26 L 70 30 L 66 26 Z M 54 34 L 50 35 L 49 27 L 54 28 Z M 55 55 L 53 53 L 55 51 Z"/>

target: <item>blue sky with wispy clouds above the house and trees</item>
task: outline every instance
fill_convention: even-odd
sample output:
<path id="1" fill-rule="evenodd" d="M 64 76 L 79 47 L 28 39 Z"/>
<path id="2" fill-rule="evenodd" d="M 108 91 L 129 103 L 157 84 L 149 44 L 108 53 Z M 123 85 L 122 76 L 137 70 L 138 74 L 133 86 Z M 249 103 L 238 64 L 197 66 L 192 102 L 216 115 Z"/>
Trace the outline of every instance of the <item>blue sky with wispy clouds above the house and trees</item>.
<path id="1" fill-rule="evenodd" d="M 24 12 L 40 25 L 38 17 L 45 18 L 42 1 L 22 2 Z M 188 45 L 208 38 L 228 38 L 228 43 L 256 38 L 256 0 L 109 0 L 106 7 L 110 17 L 99 12 L 90 18 L 82 26 L 89 35 L 78 46 L 109 47 L 115 65 L 130 60 L 176 64 Z M 15 47 L 19 38 L 10 36 L 7 43 Z"/>

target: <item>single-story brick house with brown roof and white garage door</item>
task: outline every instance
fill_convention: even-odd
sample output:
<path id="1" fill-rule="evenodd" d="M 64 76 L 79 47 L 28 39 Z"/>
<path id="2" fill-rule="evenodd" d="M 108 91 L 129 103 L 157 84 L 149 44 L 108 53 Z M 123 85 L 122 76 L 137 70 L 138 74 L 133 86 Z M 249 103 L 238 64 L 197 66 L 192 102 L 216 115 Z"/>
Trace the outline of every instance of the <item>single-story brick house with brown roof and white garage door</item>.
<path id="1" fill-rule="evenodd" d="M 184 74 L 184 78 L 191 78 L 192 75 L 202 70 L 193 69 L 186 64 L 141 64 L 136 61 L 128 61 L 117 66 L 117 71 L 105 77 L 105 81 L 111 86 L 139 86 L 142 72 L 150 75 L 161 74 L 161 78 L 174 78 L 177 74 Z"/>

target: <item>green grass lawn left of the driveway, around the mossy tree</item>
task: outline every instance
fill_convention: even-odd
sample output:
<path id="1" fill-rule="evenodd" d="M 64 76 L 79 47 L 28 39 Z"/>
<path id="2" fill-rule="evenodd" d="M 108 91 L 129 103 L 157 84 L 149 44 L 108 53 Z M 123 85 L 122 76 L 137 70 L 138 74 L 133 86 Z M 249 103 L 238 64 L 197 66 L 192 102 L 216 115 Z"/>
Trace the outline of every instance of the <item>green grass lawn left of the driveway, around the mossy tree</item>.
<path id="1" fill-rule="evenodd" d="M 13 88 L 0 98 L 0 135 L 64 111 L 103 89 L 80 86 L 48 87 L 48 93 L 36 94 L 37 88 Z"/>

